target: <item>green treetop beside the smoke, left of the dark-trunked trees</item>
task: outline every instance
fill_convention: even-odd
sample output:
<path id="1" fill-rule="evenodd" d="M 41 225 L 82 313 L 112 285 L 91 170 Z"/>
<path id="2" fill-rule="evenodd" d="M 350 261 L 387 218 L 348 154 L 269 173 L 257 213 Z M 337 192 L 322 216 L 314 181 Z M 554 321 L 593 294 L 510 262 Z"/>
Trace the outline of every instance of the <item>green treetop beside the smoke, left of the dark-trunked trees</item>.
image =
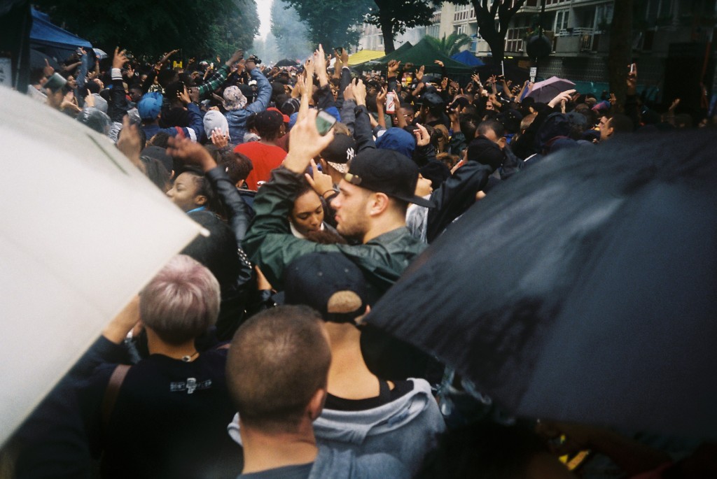
<path id="1" fill-rule="evenodd" d="M 369 0 L 286 0 L 305 24 L 313 44 L 323 44 L 326 51 L 359 43 L 357 29 L 369 11 Z"/>

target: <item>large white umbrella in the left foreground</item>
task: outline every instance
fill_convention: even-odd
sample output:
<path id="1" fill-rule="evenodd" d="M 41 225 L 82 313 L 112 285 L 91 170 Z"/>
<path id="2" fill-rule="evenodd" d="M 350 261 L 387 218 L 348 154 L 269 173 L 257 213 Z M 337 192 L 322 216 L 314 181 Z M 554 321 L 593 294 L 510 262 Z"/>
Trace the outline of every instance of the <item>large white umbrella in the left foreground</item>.
<path id="1" fill-rule="evenodd" d="M 107 137 L 0 88 L 0 445 L 201 227 Z"/>

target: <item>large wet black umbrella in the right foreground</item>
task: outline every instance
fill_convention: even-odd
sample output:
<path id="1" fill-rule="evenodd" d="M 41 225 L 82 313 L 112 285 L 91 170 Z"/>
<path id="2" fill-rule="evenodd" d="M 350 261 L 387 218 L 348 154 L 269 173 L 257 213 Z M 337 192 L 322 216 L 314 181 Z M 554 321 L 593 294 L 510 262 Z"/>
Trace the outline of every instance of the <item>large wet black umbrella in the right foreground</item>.
<path id="1" fill-rule="evenodd" d="M 495 188 L 367 321 L 516 415 L 717 436 L 714 131 L 627 135 Z"/>

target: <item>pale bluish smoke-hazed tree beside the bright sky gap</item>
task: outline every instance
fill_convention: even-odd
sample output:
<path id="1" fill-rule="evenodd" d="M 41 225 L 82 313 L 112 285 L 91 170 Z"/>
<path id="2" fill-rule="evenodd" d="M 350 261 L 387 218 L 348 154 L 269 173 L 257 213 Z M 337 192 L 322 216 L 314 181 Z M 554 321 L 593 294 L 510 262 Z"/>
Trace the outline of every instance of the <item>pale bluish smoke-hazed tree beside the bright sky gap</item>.
<path id="1" fill-rule="evenodd" d="M 277 60 L 308 56 L 313 49 L 306 34 L 307 30 L 293 6 L 282 0 L 274 0 L 271 6 L 271 32 L 277 42 L 280 56 Z"/>

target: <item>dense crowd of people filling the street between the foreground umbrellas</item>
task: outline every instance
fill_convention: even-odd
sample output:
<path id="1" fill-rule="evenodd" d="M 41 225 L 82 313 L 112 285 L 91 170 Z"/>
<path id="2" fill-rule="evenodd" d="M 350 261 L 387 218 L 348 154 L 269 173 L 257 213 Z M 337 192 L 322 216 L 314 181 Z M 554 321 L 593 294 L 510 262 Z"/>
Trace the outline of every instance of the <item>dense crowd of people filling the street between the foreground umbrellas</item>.
<path id="1" fill-rule="evenodd" d="M 587 457 L 586 477 L 600 458 L 612 469 L 593 477 L 716 473 L 715 445 L 670 455 L 612 430 L 516 420 L 364 322 L 513 175 L 713 118 L 675 114 L 679 100 L 655 110 L 635 69 L 625 99 L 537 102 L 530 82 L 461 82 L 440 61 L 429 76 L 395 60 L 354 72 L 345 49 L 320 46 L 285 68 L 242 51 L 173 68 L 173 54 L 143 64 L 118 48 L 105 64 L 80 49 L 32 76 L 29 95 L 106 135 L 210 235 L 143 287 L 16 433 L 16 477 L 572 477 L 556 453 Z"/>

